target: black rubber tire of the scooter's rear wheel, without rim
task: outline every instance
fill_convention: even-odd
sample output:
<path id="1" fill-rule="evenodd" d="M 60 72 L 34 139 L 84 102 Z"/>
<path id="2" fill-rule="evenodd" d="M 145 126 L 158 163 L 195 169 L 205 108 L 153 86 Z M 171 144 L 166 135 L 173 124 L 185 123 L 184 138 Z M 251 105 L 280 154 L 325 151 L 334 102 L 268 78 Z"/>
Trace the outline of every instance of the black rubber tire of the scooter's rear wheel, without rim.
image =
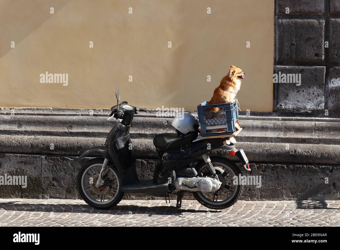
<path id="1" fill-rule="evenodd" d="M 217 165 L 218 163 L 221 163 L 221 165 L 225 165 L 226 169 L 228 171 L 231 171 L 232 174 L 234 174 L 235 176 L 239 176 L 239 174 L 241 174 L 242 176 L 242 172 L 241 170 L 236 166 L 235 163 L 233 163 L 232 161 L 230 161 L 229 159 L 225 158 L 225 157 L 220 157 L 220 156 L 212 156 L 210 157 L 211 163 L 214 166 L 216 173 L 218 173 L 218 171 L 220 171 L 221 168 L 217 168 L 215 167 L 215 165 Z M 199 163 L 195 166 L 197 171 L 202 171 L 202 169 L 205 169 L 205 166 L 207 166 L 208 164 L 206 164 L 205 162 Z M 203 206 L 208 207 L 209 209 L 216 209 L 216 210 L 220 210 L 220 209 L 226 209 L 229 206 L 234 205 L 242 196 L 242 192 L 243 192 L 243 184 L 240 183 L 240 185 L 235 185 L 235 191 L 233 193 L 233 197 L 230 200 L 225 200 L 224 202 L 215 202 L 212 200 L 208 200 L 207 198 L 205 198 L 205 196 L 201 193 L 201 192 L 193 192 L 193 196 L 195 197 L 195 199 L 201 203 Z"/>

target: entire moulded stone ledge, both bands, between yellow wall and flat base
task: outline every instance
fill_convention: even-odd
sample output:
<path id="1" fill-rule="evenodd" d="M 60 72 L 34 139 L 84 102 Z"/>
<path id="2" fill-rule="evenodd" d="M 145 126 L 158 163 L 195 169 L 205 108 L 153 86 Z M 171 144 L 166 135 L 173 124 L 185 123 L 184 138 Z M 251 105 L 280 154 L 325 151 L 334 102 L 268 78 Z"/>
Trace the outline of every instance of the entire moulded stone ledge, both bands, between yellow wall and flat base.
<path id="1" fill-rule="evenodd" d="M 75 115 L 80 112 L 76 109 L 18 109 L 22 115 L 10 115 L 7 111 L 10 109 L 0 112 L 0 152 L 3 153 L 77 156 L 88 148 L 103 145 L 115 123 L 103 116 L 105 110 L 98 110 L 98 116 Z M 29 112 L 39 115 L 23 115 Z M 53 115 L 45 115 L 51 112 Z M 135 117 L 130 134 L 137 157 L 157 158 L 152 139 L 158 133 L 174 132 L 172 119 L 157 117 L 155 111 Z M 251 162 L 339 163 L 338 117 L 240 115 L 239 120 L 243 131 L 236 137 L 237 145 L 245 150 Z"/>

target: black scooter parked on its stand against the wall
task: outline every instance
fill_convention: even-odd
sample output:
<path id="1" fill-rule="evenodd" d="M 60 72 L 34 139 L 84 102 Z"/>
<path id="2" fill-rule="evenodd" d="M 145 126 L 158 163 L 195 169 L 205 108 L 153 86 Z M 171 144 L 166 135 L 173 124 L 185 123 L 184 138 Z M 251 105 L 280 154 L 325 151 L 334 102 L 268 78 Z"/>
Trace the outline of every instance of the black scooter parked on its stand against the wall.
<path id="1" fill-rule="evenodd" d="M 177 195 L 176 208 L 181 208 L 186 192 L 210 209 L 225 209 L 241 197 L 242 183 L 234 184 L 234 177 L 242 175 L 234 162 L 221 156 L 209 157 L 214 149 L 233 151 L 246 170 L 250 170 L 243 150 L 237 150 L 234 137 L 204 138 L 199 128 L 187 134 L 163 133 L 154 137 L 159 162 L 153 180 L 139 180 L 136 158 L 130 139 L 130 126 L 134 115 L 146 111 L 120 100 L 116 89 L 117 105 L 111 108 L 111 118 L 117 123 L 109 132 L 105 145 L 86 150 L 85 156 L 98 155 L 89 160 L 78 175 L 78 189 L 87 204 L 97 209 L 117 205 L 124 193 L 146 193 L 169 198 Z"/>

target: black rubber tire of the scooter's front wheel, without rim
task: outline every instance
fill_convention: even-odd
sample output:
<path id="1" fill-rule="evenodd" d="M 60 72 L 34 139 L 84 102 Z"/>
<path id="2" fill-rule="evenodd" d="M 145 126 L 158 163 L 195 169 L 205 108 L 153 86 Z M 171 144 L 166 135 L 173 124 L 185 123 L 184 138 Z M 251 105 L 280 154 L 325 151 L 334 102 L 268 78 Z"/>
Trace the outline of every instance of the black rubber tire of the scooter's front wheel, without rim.
<path id="1" fill-rule="evenodd" d="M 101 169 L 101 165 L 103 165 L 104 163 L 104 158 L 95 158 L 95 159 L 91 159 L 88 162 L 86 162 L 86 164 L 81 168 L 81 170 L 78 173 L 78 178 L 77 178 L 77 182 L 78 182 L 78 190 L 79 193 L 81 195 L 81 197 L 83 198 L 83 200 L 89 204 L 90 206 L 96 208 L 96 209 L 110 209 L 111 207 L 114 207 L 115 205 L 117 205 L 123 198 L 124 193 L 120 188 L 120 181 L 119 178 L 117 178 L 117 185 L 118 185 L 118 189 L 117 189 L 117 194 L 115 195 L 115 197 L 113 197 L 113 199 L 111 201 L 109 201 L 108 203 L 105 204 L 100 204 L 100 201 L 95 201 L 94 199 L 90 199 L 89 193 L 85 194 L 84 189 L 86 189 L 86 187 L 84 187 L 84 178 L 85 175 L 87 174 L 87 172 L 90 170 L 90 167 L 92 166 L 99 166 L 99 169 Z M 117 169 L 113 166 L 112 163 L 108 164 L 110 166 L 110 170 L 113 171 L 114 175 L 116 177 L 118 177 L 118 171 Z M 104 203 L 104 202 L 103 202 Z"/>

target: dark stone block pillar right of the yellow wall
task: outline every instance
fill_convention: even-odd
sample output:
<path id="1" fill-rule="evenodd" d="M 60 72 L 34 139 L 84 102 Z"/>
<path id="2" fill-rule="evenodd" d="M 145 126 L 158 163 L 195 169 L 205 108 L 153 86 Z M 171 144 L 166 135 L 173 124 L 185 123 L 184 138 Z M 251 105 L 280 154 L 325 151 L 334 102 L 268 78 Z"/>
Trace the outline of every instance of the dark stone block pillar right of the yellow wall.
<path id="1" fill-rule="evenodd" d="M 340 0 L 276 0 L 274 33 L 274 73 L 301 74 L 274 82 L 274 110 L 339 113 Z"/>

